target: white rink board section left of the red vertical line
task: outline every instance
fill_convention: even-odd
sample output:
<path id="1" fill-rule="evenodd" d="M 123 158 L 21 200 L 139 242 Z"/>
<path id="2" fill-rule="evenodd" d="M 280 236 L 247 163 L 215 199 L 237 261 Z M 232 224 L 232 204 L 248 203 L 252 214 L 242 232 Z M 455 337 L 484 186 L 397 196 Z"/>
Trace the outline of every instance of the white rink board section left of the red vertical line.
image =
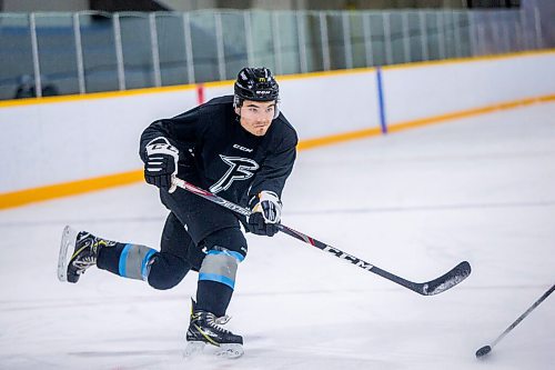
<path id="1" fill-rule="evenodd" d="M 0 108 L 0 193 L 141 168 L 142 130 L 195 90 Z"/>

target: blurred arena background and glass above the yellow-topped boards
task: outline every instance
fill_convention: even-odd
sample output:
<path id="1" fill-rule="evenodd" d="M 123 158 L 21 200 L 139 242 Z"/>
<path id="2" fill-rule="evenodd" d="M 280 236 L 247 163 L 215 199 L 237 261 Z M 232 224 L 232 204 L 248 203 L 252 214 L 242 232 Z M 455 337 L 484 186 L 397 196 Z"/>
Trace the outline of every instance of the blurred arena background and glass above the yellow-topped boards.
<path id="1" fill-rule="evenodd" d="M 0 99 L 306 73 L 555 46 L 549 0 L 3 0 Z"/>

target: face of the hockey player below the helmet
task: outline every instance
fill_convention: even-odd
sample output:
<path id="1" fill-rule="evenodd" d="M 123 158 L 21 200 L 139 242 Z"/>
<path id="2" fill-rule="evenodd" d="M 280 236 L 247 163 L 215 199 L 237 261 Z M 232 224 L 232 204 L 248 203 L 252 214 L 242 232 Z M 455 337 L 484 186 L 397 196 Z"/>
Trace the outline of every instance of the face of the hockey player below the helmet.
<path id="1" fill-rule="evenodd" d="M 272 124 L 275 108 L 275 101 L 245 100 L 236 110 L 241 126 L 250 133 L 263 137 Z"/>

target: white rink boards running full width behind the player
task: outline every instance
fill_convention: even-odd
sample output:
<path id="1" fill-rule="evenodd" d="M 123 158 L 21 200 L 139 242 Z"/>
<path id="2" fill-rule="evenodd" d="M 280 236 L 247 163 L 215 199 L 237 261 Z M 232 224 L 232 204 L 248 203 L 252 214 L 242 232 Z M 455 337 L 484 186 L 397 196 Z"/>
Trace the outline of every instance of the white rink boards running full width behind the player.
<path id="1" fill-rule="evenodd" d="M 279 79 L 301 140 L 379 127 L 374 70 Z M 555 94 L 555 52 L 383 70 L 390 124 Z M 205 88 L 205 99 L 232 83 Z M 196 104 L 195 89 L 0 104 L 0 193 L 140 169 L 139 138 Z"/>

